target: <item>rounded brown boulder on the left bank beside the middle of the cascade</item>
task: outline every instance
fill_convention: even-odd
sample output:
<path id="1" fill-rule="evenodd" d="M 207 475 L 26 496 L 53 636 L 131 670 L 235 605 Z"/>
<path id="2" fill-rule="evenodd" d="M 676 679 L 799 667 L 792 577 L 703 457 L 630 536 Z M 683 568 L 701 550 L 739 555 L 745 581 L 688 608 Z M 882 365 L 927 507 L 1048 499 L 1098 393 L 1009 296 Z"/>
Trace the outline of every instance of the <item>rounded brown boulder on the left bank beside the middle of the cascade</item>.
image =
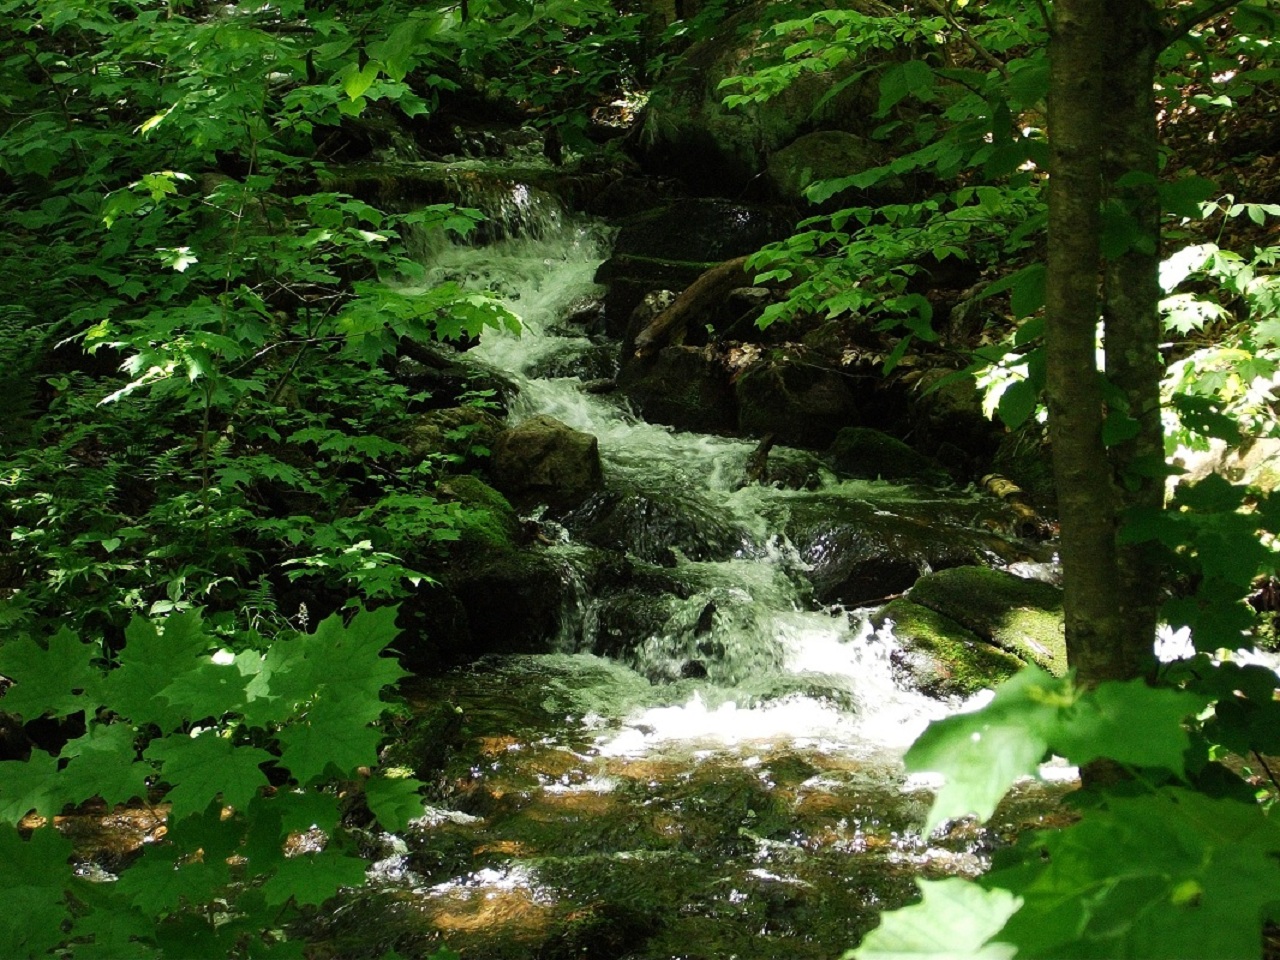
<path id="1" fill-rule="evenodd" d="M 499 434 L 493 448 L 494 485 L 520 503 L 573 507 L 600 489 L 600 444 L 539 413 Z"/>

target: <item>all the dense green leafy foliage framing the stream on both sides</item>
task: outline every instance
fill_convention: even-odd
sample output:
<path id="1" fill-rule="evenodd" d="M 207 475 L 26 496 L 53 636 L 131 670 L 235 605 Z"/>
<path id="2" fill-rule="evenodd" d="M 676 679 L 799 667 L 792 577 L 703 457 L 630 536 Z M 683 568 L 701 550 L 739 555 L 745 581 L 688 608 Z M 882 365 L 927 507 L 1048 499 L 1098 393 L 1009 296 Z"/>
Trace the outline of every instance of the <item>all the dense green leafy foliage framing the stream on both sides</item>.
<path id="1" fill-rule="evenodd" d="M 420 398 L 392 369 L 404 342 L 517 321 L 413 285 L 408 243 L 466 236 L 477 211 L 383 210 L 324 170 L 463 96 L 596 150 L 586 105 L 630 104 L 726 6 L 663 32 L 657 5 L 603 0 L 0 3 L 0 707 L 58 730 L 0 763 L 0 952 L 301 955 L 289 923 L 364 878 L 358 828 L 420 812 L 421 785 L 378 765 L 402 709 L 394 604 L 486 521 L 442 493 L 457 454 L 410 454 Z M 1094 58 L 1061 46 L 1076 17 Z M 1089 774 L 1079 822 L 980 881 L 923 883 L 859 957 L 1253 956 L 1280 922 L 1276 677 L 1217 655 L 1266 639 L 1248 599 L 1280 573 L 1280 500 L 1216 475 L 1164 497 L 1179 448 L 1276 433 L 1275 183 L 1228 192 L 1230 157 L 1178 138 L 1193 116 L 1274 119 L 1276 17 L 1262 0 L 797 9 L 769 20 L 781 58 L 723 90 L 750 110 L 855 64 L 892 156 L 812 186 L 828 212 L 751 259 L 788 285 L 760 324 L 867 326 L 892 338 L 888 371 L 940 339 L 925 264 L 966 261 L 1005 316 L 965 376 L 1010 429 L 1038 430 L 1047 389 L 1056 431 L 1079 672 L 1019 675 L 908 764 L 947 774 L 933 828 L 989 815 L 1062 755 Z M 1158 93 L 1130 118 L 1140 169 L 1098 146 L 1132 133 L 1103 101 L 1066 109 L 1071 83 L 1120 87 L 1097 31 L 1134 23 L 1151 28 L 1138 87 Z M 1075 122 L 1094 141 L 1064 159 L 1055 131 Z M 1083 197 L 1065 166 L 1080 154 Z M 890 198 L 835 209 L 858 196 Z M 1089 218 L 1056 215 L 1064 197 Z M 1080 531 L 1093 547 L 1073 554 Z M 1198 650 L 1167 667 L 1149 658 L 1161 599 Z M 69 844 L 32 819 L 95 797 L 169 805 L 166 842 L 113 884 L 74 877 Z"/>

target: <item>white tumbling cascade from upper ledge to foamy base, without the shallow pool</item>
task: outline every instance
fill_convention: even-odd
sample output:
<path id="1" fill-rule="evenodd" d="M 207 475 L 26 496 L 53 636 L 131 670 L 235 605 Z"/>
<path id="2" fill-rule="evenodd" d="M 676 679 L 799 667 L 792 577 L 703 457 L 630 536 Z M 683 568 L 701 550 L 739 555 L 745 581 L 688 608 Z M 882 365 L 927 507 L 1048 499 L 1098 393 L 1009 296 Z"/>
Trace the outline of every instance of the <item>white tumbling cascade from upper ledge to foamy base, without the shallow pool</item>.
<path id="1" fill-rule="evenodd" d="M 820 494 L 744 486 L 754 443 L 648 424 L 620 398 L 582 390 L 580 376 L 539 375 L 552 360 L 568 357 L 559 367 L 572 369 L 576 355 L 599 348 L 568 328 L 564 315 L 600 292 L 593 275 L 612 232 L 568 215 L 549 195 L 525 205 L 532 196 L 518 186 L 477 195 L 500 221 L 493 232 L 498 239 L 439 250 L 429 280 L 492 292 L 520 316 L 520 335 L 488 333 L 467 356 L 517 384 L 513 421 L 548 413 L 599 439 L 609 493 L 570 526 L 590 527 L 603 516 L 600 522 L 626 532 L 632 558 L 660 562 L 664 577 L 678 586 L 678 594 L 636 599 L 660 609 L 648 618 L 649 632 L 622 637 L 617 646 L 632 669 L 667 686 L 667 701 L 655 708 L 666 712 L 662 717 L 689 716 L 675 726 L 643 713 L 620 719 L 632 731 L 653 730 L 658 744 L 686 721 L 699 736 L 723 721 L 726 741 L 740 740 L 745 717 L 772 714 L 771 728 L 782 736 L 778 701 L 786 700 L 792 704 L 786 716 L 797 723 L 792 736 L 838 731 L 846 749 L 910 742 L 945 708 L 895 681 L 887 631 L 876 632 L 863 617 L 840 609 L 815 608 L 797 576 L 801 561 L 778 530 L 797 499 L 851 495 L 892 504 L 911 494 L 833 480 Z M 552 549 L 566 552 L 571 564 L 577 552 L 582 562 L 573 532 L 564 539 Z M 604 616 L 600 604 L 582 593 L 580 622 L 566 625 L 559 649 L 568 637 L 585 649 L 602 645 L 593 644 Z M 797 708 L 801 703 L 808 707 Z"/>

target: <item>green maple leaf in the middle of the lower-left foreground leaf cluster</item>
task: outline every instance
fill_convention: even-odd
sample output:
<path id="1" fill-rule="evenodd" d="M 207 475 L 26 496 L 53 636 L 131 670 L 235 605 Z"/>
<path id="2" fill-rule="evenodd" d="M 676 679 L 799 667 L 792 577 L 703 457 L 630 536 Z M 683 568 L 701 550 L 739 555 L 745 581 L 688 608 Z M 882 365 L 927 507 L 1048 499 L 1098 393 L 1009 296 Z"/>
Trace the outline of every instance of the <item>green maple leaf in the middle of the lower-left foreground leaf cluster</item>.
<path id="1" fill-rule="evenodd" d="M 261 765 L 275 759 L 255 746 L 233 746 L 212 732 L 174 733 L 154 741 L 145 755 L 160 762 L 160 778 L 170 786 L 165 799 L 179 818 L 204 812 L 219 796 L 223 804 L 244 809 L 268 785 Z"/>

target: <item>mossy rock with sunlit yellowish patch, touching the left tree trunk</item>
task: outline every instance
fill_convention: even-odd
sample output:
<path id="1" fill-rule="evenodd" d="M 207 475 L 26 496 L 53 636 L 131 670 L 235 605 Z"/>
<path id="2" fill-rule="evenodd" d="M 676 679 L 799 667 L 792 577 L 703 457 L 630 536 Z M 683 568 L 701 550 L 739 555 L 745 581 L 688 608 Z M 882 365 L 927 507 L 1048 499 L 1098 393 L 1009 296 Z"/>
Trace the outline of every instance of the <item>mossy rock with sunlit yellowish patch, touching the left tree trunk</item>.
<path id="1" fill-rule="evenodd" d="M 988 567 L 920 577 L 910 599 L 1055 676 L 1066 672 L 1062 591 Z"/>

